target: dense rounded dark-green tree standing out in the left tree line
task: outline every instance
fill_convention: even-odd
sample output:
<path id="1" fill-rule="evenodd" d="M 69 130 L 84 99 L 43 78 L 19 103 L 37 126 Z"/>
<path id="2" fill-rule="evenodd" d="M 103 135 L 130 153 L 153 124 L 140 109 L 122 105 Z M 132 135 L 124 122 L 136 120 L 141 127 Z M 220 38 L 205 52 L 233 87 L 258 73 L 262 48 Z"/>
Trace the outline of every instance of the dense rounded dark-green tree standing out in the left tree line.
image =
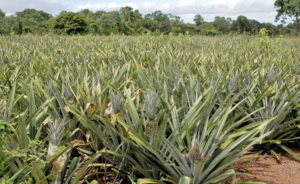
<path id="1" fill-rule="evenodd" d="M 87 23 L 79 13 L 62 12 L 53 21 L 56 33 L 79 34 L 87 31 Z"/>

